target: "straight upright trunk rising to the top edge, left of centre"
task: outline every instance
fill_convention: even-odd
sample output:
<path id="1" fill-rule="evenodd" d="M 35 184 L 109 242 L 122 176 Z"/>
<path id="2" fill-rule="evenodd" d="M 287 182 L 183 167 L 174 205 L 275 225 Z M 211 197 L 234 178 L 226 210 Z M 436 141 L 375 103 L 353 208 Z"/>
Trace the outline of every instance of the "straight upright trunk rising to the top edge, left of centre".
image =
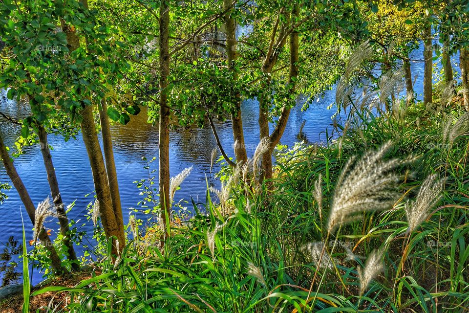
<path id="1" fill-rule="evenodd" d="M 160 192 L 160 226 L 163 232 L 163 239 L 170 236 L 167 231 L 167 224 L 171 216 L 170 203 L 170 109 L 168 108 L 168 75 L 170 73 L 170 53 L 169 53 L 169 25 L 170 7 L 167 1 L 162 1 L 160 5 L 160 120 L 159 120 L 159 192 Z"/>

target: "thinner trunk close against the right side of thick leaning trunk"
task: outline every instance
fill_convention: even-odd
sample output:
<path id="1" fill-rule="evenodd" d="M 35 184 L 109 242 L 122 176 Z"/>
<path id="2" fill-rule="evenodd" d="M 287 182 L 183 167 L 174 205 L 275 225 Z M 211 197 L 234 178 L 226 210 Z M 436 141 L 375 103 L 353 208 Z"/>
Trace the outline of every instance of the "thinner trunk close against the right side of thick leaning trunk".
<path id="1" fill-rule="evenodd" d="M 106 99 L 101 101 L 99 107 L 99 120 L 101 123 L 101 135 L 103 136 L 103 149 L 106 158 L 107 181 L 111 192 L 112 207 L 116 216 L 117 224 L 124 229 L 124 219 L 122 217 L 121 196 L 119 192 L 119 182 L 117 181 L 116 163 L 112 148 L 111 130 L 109 127 L 109 117 L 107 116 Z"/>

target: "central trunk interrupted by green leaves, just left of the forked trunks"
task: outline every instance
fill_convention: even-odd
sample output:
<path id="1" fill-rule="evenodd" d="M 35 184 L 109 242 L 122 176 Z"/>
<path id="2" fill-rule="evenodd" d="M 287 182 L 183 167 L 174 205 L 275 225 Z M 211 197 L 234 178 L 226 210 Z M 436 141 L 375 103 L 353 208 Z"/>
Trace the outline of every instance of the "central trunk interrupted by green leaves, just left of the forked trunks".
<path id="1" fill-rule="evenodd" d="M 233 5 L 231 0 L 224 0 L 225 10 L 231 9 L 225 15 L 225 28 L 226 28 L 226 54 L 228 57 L 228 67 L 233 72 L 234 79 L 238 78 L 235 61 L 237 58 L 236 53 L 236 24 L 235 19 L 232 18 L 233 14 Z M 243 120 L 241 118 L 241 99 L 238 94 L 237 100 L 235 103 L 235 113 L 231 114 L 232 128 L 233 128 L 233 138 L 235 139 L 235 157 L 236 163 L 241 164 L 246 162 L 248 159 L 246 153 L 246 145 L 244 141 L 244 132 L 243 132 Z"/>

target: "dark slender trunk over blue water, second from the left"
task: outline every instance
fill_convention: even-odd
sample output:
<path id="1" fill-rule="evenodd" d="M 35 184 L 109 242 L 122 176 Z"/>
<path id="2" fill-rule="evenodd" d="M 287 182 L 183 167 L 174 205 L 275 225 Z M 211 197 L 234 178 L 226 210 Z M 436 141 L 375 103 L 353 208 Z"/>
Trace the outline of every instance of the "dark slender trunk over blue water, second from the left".
<path id="1" fill-rule="evenodd" d="M 64 202 L 62 201 L 62 196 L 60 194 L 59 182 L 57 180 L 54 164 L 52 162 L 52 155 L 50 154 L 49 144 L 47 142 L 47 132 L 45 131 L 43 125 L 38 125 L 38 136 L 39 142 L 41 143 L 41 153 L 43 155 L 47 180 L 49 181 L 50 193 L 52 195 L 59 219 L 60 232 L 62 236 L 64 236 L 64 246 L 66 247 L 68 253 L 68 259 L 72 262 L 72 268 L 74 270 L 78 270 L 80 265 L 78 263 L 75 249 L 73 248 L 73 243 L 70 240 L 68 218 L 65 212 Z"/>

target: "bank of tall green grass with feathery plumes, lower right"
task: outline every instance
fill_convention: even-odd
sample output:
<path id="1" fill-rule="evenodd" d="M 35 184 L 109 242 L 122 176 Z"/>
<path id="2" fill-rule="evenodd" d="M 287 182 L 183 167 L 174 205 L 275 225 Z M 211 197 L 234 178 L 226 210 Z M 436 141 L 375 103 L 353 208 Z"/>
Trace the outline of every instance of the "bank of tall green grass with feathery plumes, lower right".
<path id="1" fill-rule="evenodd" d="M 357 110 L 340 145 L 279 153 L 270 190 L 227 183 L 214 203 L 207 188 L 163 250 L 133 224 L 115 263 L 34 294 L 68 291 L 64 312 L 466 312 L 466 116 L 424 110 Z"/>

